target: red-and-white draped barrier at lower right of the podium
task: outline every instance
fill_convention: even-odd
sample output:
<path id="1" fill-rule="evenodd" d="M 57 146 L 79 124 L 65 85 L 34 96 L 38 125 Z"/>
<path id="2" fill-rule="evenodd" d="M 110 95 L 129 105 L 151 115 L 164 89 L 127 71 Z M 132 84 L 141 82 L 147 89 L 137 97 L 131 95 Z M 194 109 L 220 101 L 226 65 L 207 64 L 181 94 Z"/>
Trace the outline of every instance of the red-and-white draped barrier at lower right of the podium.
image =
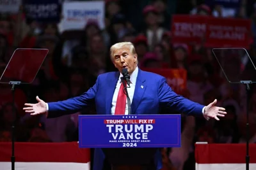
<path id="1" fill-rule="evenodd" d="M 256 145 L 250 143 L 250 169 L 256 169 Z M 244 170 L 245 143 L 195 144 L 196 170 Z"/>

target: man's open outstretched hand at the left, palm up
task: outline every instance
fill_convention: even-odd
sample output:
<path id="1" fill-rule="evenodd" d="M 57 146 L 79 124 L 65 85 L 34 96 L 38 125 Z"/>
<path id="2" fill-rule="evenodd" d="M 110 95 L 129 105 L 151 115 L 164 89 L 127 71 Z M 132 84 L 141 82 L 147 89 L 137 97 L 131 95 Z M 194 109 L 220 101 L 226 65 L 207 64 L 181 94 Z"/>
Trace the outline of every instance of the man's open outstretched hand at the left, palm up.
<path id="1" fill-rule="evenodd" d="M 36 96 L 36 101 L 38 101 L 36 104 L 25 103 L 23 110 L 25 110 L 26 113 L 30 113 L 30 115 L 45 114 L 47 112 L 46 103 L 39 99 L 38 96 Z"/>

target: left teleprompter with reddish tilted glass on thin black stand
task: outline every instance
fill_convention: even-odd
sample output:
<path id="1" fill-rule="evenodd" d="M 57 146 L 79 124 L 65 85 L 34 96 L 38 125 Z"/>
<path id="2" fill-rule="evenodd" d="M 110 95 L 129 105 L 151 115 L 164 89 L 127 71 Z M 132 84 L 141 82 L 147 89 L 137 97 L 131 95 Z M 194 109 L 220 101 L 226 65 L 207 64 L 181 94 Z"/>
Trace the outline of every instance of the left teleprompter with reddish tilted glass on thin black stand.
<path id="1" fill-rule="evenodd" d="M 35 80 L 47 53 L 47 49 L 16 49 L 0 78 L 0 83 L 12 86 L 12 170 L 15 169 L 15 89 L 18 85 L 30 84 Z"/>

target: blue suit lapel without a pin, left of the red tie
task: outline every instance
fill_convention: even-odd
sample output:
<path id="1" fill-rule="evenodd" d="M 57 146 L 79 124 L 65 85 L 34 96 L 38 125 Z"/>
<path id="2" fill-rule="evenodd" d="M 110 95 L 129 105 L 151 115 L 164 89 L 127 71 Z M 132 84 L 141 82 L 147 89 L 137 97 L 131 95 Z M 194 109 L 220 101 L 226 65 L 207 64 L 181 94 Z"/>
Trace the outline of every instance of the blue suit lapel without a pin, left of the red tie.
<path id="1" fill-rule="evenodd" d="M 106 115 L 111 115 L 111 103 L 114 96 L 116 83 L 120 73 L 117 71 L 108 76 L 108 83 L 106 83 Z"/>

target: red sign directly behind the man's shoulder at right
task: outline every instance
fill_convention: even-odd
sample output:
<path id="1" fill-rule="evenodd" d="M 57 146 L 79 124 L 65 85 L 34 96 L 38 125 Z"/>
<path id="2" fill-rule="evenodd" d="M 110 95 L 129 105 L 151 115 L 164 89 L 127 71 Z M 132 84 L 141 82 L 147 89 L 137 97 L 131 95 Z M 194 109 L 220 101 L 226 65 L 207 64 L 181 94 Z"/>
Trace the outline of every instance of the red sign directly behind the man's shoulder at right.
<path id="1" fill-rule="evenodd" d="M 149 71 L 159 74 L 166 78 L 168 85 L 177 94 L 182 94 L 187 87 L 187 71 L 185 69 L 155 69 L 141 68 L 143 71 Z"/>

